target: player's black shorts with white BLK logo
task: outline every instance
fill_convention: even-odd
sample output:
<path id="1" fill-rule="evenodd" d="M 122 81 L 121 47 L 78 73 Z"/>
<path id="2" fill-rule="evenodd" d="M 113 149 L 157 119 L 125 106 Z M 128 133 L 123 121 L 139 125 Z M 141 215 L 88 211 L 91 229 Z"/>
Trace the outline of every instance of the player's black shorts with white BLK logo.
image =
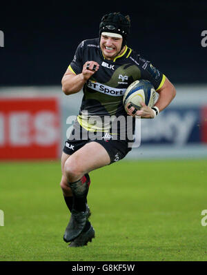
<path id="1" fill-rule="evenodd" d="M 78 136 L 78 138 L 74 138 L 75 129 L 73 128 L 69 139 L 66 141 L 65 146 L 63 147 L 64 153 L 71 155 L 86 145 L 86 143 L 95 141 L 106 149 L 108 155 L 110 156 L 111 164 L 119 161 L 120 159 L 123 159 L 126 154 L 132 150 L 131 147 L 128 147 L 128 141 L 118 140 L 117 138 L 113 139 L 113 135 L 106 132 L 99 132 L 99 139 L 90 139 L 90 132 L 82 128 L 81 125 L 79 125 L 79 130 L 81 133 L 80 136 Z M 95 133 L 92 134 L 94 136 Z"/>

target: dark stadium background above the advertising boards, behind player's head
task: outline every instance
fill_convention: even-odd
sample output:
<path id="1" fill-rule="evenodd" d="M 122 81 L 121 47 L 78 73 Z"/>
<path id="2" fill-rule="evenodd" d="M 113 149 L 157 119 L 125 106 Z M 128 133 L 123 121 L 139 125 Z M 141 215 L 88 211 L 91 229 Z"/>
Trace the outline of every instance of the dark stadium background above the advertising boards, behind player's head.
<path id="1" fill-rule="evenodd" d="M 206 1 L 3 1 L 0 85 L 60 85 L 83 39 L 98 36 L 103 14 L 130 14 L 128 45 L 172 83 L 206 83 Z"/>

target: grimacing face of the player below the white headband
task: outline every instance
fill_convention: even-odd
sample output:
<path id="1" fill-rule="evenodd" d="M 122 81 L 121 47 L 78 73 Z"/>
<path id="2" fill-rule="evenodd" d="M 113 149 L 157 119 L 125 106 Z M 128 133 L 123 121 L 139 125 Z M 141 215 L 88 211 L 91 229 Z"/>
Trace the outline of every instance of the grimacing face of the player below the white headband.
<path id="1" fill-rule="evenodd" d="M 100 47 L 103 55 L 108 60 L 113 60 L 117 57 L 121 50 L 123 38 L 108 37 L 108 35 L 101 35 Z"/>

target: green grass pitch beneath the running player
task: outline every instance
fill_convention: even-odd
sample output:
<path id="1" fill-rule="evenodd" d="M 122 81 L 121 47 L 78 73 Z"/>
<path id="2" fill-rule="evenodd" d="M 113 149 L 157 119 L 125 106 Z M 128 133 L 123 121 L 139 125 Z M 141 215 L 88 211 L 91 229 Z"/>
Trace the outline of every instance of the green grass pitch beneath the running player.
<path id="1" fill-rule="evenodd" d="M 0 261 L 207 261 L 206 167 L 119 161 L 90 172 L 96 237 L 68 247 L 59 161 L 0 163 Z"/>

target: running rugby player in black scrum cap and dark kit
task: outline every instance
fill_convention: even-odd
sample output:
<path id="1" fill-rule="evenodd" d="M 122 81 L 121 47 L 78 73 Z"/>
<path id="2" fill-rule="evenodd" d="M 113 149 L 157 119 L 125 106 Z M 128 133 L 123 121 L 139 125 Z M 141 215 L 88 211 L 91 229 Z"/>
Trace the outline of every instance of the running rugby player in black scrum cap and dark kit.
<path id="1" fill-rule="evenodd" d="M 83 89 L 79 115 L 61 157 L 61 189 L 71 212 L 63 240 L 70 242 L 70 247 L 87 245 L 95 237 L 95 230 L 88 221 L 88 173 L 123 159 L 131 150 L 128 147 L 130 138 L 120 138 L 121 126 L 112 130 L 111 121 L 103 123 L 103 117 L 128 116 L 134 131 L 135 115 L 153 119 L 176 94 L 175 87 L 163 73 L 128 47 L 129 30 L 129 16 L 120 12 L 103 16 L 99 37 L 79 44 L 61 81 L 66 95 Z M 124 92 L 137 79 L 150 81 L 159 93 L 159 99 L 152 108 L 143 103 L 138 111 L 129 105 L 126 113 L 122 103 Z M 92 123 L 92 119 L 99 123 Z M 99 139 L 91 139 L 91 133 L 99 133 Z"/>

